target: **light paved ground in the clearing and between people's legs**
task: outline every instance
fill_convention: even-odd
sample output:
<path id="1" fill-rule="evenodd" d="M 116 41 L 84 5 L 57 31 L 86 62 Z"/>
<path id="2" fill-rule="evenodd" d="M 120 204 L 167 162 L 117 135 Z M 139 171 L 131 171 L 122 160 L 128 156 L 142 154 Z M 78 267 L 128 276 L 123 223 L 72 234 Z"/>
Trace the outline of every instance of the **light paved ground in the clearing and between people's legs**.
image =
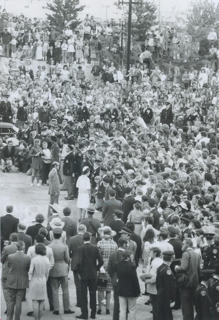
<path id="1" fill-rule="evenodd" d="M 49 195 L 48 195 L 48 187 L 37 188 L 36 184 L 34 188 L 29 188 L 31 181 L 31 177 L 27 176 L 24 173 L 20 172 L 10 172 L 10 173 L 2 173 L 0 172 L 0 212 L 1 215 L 5 214 L 5 207 L 8 204 L 14 206 L 14 214 L 16 217 L 19 217 L 20 221 L 23 220 L 25 208 L 28 205 L 37 205 L 40 209 L 40 212 L 47 217 L 48 203 L 49 203 Z M 66 201 L 64 200 L 65 192 L 61 191 L 61 196 L 59 200 L 59 204 L 62 208 L 68 206 L 72 209 L 72 218 L 78 221 L 78 210 L 76 208 L 76 200 Z M 95 215 L 96 218 L 100 219 L 100 213 Z M 142 265 L 137 269 L 138 275 L 141 275 Z M 76 305 L 76 291 L 73 279 L 73 273 L 69 272 L 69 293 L 70 293 L 70 308 L 75 311 L 74 315 L 64 315 L 63 307 L 62 307 L 62 296 L 60 291 L 60 315 L 54 316 L 52 312 L 49 310 L 48 300 L 45 300 L 45 312 L 43 314 L 42 320 L 61 320 L 61 319 L 76 319 L 76 315 L 80 315 L 80 309 L 75 307 Z M 144 292 L 144 283 L 140 282 L 141 291 Z M 138 301 L 137 308 L 137 320 L 152 320 L 151 306 L 145 306 L 144 302 L 148 300 L 148 296 L 142 296 L 142 298 Z M 3 298 L 3 294 L 1 291 L 1 320 L 6 319 L 6 315 L 4 315 L 4 311 L 6 310 L 5 301 Z M 97 315 L 96 319 L 98 320 L 106 320 L 112 319 L 112 311 L 113 311 L 113 294 L 111 295 L 110 301 L 110 315 L 106 316 L 105 308 L 102 308 L 102 315 Z M 30 320 L 31 317 L 26 316 L 29 311 L 28 302 L 25 301 L 22 303 L 22 314 L 21 320 Z M 181 310 L 174 311 L 174 320 L 182 320 Z M 33 317 L 32 317 L 33 319 Z"/>

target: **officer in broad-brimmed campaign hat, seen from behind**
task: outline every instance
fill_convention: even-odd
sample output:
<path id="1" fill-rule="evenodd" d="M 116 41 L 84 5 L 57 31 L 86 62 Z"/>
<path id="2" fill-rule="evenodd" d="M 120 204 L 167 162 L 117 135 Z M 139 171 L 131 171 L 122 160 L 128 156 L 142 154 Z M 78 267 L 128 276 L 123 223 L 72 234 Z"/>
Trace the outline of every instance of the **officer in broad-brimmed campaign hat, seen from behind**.
<path id="1" fill-rule="evenodd" d="M 87 228 L 87 232 L 90 232 L 92 234 L 91 244 L 97 245 L 97 242 L 101 240 L 100 235 L 97 232 L 97 230 L 101 228 L 101 223 L 100 223 L 100 220 L 93 218 L 94 212 L 95 212 L 94 205 L 93 204 L 89 205 L 89 207 L 87 208 L 87 218 L 82 219 L 80 221 L 80 224 L 84 224 Z"/>

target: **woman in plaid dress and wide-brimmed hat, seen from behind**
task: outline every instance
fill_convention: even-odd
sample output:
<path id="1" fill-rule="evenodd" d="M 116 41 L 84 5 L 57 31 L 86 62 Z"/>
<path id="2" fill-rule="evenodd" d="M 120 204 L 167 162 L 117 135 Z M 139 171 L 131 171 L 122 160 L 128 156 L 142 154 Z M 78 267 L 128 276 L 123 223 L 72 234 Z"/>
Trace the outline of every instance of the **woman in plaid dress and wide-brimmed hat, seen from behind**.
<path id="1" fill-rule="evenodd" d="M 103 228 L 99 228 L 97 232 L 100 234 L 100 238 L 102 239 L 101 241 L 98 241 L 97 246 L 100 248 L 100 252 L 104 260 L 103 266 L 100 268 L 100 271 L 97 272 L 97 296 L 99 305 L 97 314 L 101 314 L 102 300 L 104 299 L 104 291 L 106 291 L 106 314 L 109 315 L 109 302 L 113 286 L 112 280 L 107 272 L 107 265 L 110 253 L 118 250 L 117 244 L 113 241 L 113 237 L 116 236 L 116 231 L 105 226 Z"/>

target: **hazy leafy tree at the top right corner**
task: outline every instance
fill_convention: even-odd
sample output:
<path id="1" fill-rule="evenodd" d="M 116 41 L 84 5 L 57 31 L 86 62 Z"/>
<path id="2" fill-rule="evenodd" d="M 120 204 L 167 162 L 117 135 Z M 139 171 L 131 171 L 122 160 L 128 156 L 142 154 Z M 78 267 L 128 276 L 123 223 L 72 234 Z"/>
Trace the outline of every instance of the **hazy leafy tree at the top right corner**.
<path id="1" fill-rule="evenodd" d="M 195 0 L 191 3 L 190 14 L 187 14 L 187 32 L 192 40 L 207 38 L 211 28 L 218 28 L 219 4 L 208 0 Z"/>

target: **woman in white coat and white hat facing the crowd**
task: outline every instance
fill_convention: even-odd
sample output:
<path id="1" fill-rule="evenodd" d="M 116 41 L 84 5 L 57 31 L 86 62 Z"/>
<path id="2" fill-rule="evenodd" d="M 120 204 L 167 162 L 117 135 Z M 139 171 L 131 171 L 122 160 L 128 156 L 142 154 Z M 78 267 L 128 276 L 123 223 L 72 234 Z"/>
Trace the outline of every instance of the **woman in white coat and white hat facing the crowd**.
<path id="1" fill-rule="evenodd" d="M 90 204 L 89 190 L 91 188 L 90 179 L 88 178 L 90 174 L 90 168 L 85 166 L 82 169 L 82 175 L 77 179 L 76 187 L 78 188 L 77 197 L 77 208 L 79 208 L 80 219 L 84 219 L 86 208 Z"/>

